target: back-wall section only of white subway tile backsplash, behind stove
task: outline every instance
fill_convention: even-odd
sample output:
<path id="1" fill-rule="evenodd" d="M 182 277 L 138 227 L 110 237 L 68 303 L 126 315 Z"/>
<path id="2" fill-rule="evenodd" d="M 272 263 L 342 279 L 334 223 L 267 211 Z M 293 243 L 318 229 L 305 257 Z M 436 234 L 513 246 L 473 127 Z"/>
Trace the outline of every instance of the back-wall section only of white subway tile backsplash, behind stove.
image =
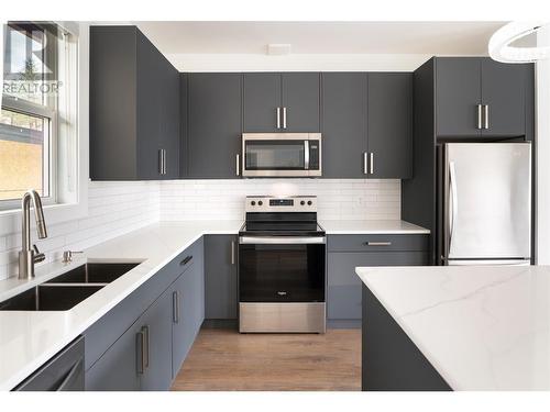
<path id="1" fill-rule="evenodd" d="M 244 197 L 315 194 L 320 220 L 400 219 L 400 180 L 242 179 L 161 182 L 161 220 L 239 220 Z"/>

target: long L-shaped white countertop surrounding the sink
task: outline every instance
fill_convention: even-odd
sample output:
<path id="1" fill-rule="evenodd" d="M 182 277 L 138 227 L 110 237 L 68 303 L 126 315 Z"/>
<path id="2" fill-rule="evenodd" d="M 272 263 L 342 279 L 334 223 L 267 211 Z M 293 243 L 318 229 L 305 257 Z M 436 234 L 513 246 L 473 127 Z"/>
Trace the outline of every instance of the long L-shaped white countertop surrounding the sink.
<path id="1" fill-rule="evenodd" d="M 0 311 L 0 390 L 10 390 L 204 234 L 234 234 L 242 221 L 162 222 L 85 250 L 69 265 L 36 268 L 31 281 L 0 281 L 0 301 L 86 260 L 142 261 L 69 311 Z"/>

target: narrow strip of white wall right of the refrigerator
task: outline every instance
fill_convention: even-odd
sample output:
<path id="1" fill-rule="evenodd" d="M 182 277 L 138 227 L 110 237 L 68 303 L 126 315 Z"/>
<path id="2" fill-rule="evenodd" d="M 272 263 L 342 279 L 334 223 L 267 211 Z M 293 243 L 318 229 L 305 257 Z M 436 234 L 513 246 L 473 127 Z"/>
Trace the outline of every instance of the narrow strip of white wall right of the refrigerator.
<path id="1" fill-rule="evenodd" d="M 550 27 L 538 33 L 550 45 Z M 550 264 L 550 59 L 537 63 L 537 264 Z"/>

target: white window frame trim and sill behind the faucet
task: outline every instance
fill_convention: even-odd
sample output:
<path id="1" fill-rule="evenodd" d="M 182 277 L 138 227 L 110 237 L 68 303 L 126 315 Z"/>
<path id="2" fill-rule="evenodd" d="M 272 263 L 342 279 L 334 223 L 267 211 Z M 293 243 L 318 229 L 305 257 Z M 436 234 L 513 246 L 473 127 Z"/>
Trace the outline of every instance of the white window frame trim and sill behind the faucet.
<path id="1" fill-rule="evenodd" d="M 74 35 L 75 44 L 72 52 L 76 53 L 75 66 L 68 68 L 74 83 L 75 113 L 72 127 L 75 131 L 74 148 L 74 193 L 64 197 L 62 202 L 44 205 L 44 216 L 47 225 L 73 221 L 88 215 L 88 181 L 89 181 L 89 23 L 55 22 Z M 2 51 L 0 51 L 3 53 Z M 1 92 L 1 91 L 0 91 Z M 59 178 L 59 177 L 58 177 Z M 57 179 L 59 181 L 59 179 Z M 59 194 L 59 188 L 57 190 Z M 34 224 L 34 223 L 33 223 Z M 0 236 L 21 231 L 20 204 L 12 210 L 0 210 Z"/>

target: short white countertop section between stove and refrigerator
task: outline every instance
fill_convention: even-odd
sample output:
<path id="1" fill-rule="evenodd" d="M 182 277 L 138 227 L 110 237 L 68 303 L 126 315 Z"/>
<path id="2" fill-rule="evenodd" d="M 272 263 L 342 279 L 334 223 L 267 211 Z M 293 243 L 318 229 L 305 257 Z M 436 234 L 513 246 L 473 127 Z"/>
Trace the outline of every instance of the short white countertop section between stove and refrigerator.
<path id="1" fill-rule="evenodd" d="M 429 234 L 428 229 L 417 226 L 416 224 L 397 221 L 397 220 L 381 220 L 381 221 L 331 221 L 321 220 L 319 222 L 322 229 L 329 235 L 337 234 Z"/>

